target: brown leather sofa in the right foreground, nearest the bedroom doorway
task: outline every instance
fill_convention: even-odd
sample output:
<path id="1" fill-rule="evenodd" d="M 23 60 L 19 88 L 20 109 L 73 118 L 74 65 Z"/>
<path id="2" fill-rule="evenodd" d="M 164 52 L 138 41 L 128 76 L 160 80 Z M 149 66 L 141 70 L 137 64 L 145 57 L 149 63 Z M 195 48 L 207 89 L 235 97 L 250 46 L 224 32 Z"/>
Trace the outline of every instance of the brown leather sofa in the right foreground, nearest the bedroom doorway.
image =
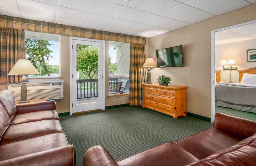
<path id="1" fill-rule="evenodd" d="M 217 113 L 213 128 L 118 162 L 104 147 L 91 147 L 84 154 L 84 166 L 252 166 L 255 132 L 255 121 Z"/>

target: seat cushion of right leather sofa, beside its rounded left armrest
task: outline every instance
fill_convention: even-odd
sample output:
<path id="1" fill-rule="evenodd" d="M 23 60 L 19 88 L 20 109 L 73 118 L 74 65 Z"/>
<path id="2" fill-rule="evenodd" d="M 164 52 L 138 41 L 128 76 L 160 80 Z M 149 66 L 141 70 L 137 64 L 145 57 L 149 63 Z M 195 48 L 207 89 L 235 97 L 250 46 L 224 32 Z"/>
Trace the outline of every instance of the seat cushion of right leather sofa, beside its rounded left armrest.
<path id="1" fill-rule="evenodd" d="M 117 162 L 119 166 L 180 166 L 198 159 L 174 142 L 167 142 Z"/>

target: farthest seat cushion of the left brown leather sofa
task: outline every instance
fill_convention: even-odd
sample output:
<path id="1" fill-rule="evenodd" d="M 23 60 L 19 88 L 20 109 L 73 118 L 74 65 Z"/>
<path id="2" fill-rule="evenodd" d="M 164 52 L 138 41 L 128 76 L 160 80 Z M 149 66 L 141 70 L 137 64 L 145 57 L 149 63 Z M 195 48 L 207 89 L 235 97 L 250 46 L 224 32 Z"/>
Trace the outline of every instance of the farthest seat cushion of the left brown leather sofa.
<path id="1" fill-rule="evenodd" d="M 49 120 L 49 119 L 59 120 L 58 113 L 56 110 L 47 110 L 47 111 L 38 111 L 38 112 L 19 114 L 12 119 L 11 125 L 28 123 L 28 122 L 36 122 L 40 120 Z"/>

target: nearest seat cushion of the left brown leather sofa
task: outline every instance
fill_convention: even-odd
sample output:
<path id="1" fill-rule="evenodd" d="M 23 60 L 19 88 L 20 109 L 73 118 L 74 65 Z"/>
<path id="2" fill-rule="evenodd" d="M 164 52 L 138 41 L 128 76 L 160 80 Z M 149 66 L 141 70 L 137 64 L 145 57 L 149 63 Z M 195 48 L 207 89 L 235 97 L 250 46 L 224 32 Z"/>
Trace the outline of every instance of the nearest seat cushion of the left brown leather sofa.
<path id="1" fill-rule="evenodd" d="M 0 146 L 0 161 L 68 145 L 63 132 Z"/>

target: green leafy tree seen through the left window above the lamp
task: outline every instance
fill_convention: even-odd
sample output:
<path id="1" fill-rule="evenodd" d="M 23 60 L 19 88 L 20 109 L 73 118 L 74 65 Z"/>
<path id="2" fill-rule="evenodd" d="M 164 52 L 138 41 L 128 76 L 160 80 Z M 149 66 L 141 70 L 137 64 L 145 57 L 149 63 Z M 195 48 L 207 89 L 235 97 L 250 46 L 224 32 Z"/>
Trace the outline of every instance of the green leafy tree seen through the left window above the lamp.
<path id="1" fill-rule="evenodd" d="M 48 70 L 49 65 L 45 62 L 49 61 L 49 58 L 52 57 L 50 54 L 53 53 L 48 46 L 52 44 L 49 41 L 44 40 L 34 40 L 34 39 L 26 39 L 26 54 L 28 55 L 28 60 L 35 66 L 37 71 L 39 72 L 39 76 L 44 76 L 47 74 L 51 76 Z"/>

